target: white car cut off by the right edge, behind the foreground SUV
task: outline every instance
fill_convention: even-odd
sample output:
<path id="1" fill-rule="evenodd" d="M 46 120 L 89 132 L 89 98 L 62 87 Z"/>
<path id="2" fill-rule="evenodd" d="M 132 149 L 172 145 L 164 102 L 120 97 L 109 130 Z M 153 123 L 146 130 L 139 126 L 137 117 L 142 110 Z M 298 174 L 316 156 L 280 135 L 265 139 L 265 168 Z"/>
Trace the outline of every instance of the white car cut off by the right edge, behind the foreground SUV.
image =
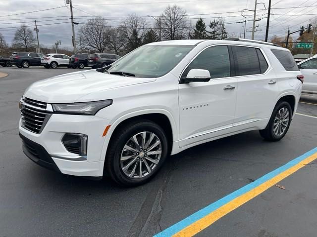
<path id="1" fill-rule="evenodd" d="M 298 67 L 305 77 L 303 92 L 317 94 L 317 55 L 298 63 Z"/>

